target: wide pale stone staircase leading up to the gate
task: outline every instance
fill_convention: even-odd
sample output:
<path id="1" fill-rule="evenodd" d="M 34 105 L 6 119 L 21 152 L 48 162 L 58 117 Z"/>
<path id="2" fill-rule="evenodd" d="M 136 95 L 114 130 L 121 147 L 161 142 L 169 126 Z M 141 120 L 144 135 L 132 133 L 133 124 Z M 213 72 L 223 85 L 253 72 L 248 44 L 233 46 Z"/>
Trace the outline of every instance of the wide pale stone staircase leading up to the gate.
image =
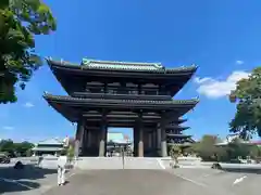
<path id="1" fill-rule="evenodd" d="M 124 169 L 162 169 L 158 158 L 125 157 Z M 75 167 L 79 169 L 123 169 L 122 157 L 80 157 Z"/>

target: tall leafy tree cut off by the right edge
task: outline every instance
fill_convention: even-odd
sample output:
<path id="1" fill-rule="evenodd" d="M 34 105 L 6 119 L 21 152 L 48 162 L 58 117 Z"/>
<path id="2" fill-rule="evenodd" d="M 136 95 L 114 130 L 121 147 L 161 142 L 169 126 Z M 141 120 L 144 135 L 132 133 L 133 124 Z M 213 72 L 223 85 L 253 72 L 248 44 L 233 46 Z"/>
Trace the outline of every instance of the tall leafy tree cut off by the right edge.
<path id="1" fill-rule="evenodd" d="M 244 139 L 253 133 L 261 136 L 261 67 L 237 82 L 229 100 L 237 104 L 235 117 L 229 122 L 231 132 L 240 133 Z"/>

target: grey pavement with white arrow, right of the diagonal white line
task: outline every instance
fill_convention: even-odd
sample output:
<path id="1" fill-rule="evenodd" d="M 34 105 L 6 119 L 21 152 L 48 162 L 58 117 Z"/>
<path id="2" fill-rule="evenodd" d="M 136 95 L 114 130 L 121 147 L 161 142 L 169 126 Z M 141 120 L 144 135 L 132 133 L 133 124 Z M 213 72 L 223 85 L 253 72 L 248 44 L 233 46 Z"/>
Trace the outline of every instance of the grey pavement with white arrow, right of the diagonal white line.
<path id="1" fill-rule="evenodd" d="M 174 169 L 172 174 L 187 180 L 203 188 L 211 188 L 215 194 L 258 195 L 260 194 L 261 174 L 259 172 L 228 172 L 213 169 Z"/>

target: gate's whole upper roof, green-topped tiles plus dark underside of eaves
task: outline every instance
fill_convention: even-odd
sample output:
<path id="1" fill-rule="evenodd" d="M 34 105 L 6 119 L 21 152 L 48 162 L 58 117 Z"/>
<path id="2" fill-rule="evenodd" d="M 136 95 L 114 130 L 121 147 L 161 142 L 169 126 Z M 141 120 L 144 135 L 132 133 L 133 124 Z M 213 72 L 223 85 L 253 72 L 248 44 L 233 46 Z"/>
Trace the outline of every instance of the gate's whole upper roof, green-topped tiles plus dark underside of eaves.
<path id="1" fill-rule="evenodd" d="M 171 92 L 171 96 L 174 96 L 198 68 L 196 65 L 165 68 L 160 63 L 95 60 L 84 60 L 82 64 L 74 64 L 47 58 L 47 63 L 69 94 L 75 92 L 75 84 L 86 84 L 86 78 L 90 78 L 88 82 L 99 81 L 102 78 L 114 82 L 124 82 L 127 79 L 129 83 L 161 84 L 164 86 L 164 90 Z"/>

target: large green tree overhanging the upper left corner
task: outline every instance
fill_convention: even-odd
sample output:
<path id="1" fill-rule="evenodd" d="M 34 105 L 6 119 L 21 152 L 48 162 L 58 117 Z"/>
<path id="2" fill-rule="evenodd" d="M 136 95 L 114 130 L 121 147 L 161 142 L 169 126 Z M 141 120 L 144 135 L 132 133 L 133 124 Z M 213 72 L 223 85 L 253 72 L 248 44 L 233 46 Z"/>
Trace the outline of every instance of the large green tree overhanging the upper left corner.
<path id="1" fill-rule="evenodd" d="M 41 65 L 34 36 L 55 28 L 51 11 L 40 0 L 0 1 L 0 103 L 15 102 L 15 87 L 24 89 Z"/>

